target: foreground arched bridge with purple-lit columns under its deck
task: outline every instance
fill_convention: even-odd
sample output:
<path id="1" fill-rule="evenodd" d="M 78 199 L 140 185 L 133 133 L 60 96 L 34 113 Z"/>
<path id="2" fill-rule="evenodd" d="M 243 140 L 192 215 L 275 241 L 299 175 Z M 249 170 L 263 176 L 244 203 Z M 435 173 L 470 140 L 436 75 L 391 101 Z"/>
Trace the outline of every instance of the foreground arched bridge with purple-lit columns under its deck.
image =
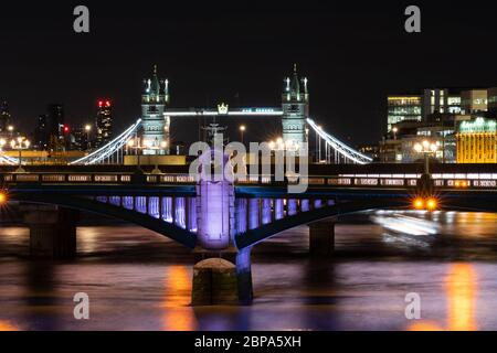
<path id="1" fill-rule="evenodd" d="M 33 254 L 74 255 L 74 212 L 86 211 L 141 225 L 207 258 L 224 257 L 232 248 L 245 284 L 251 248 L 257 243 L 308 224 L 310 252 L 330 255 L 332 217 L 374 208 L 413 208 L 423 175 L 421 164 L 317 164 L 300 176 L 299 182 L 308 183 L 306 192 L 293 194 L 288 185 L 295 180 L 248 175 L 233 183 L 199 181 L 187 165 L 161 165 L 160 174 L 115 165 L 31 167 L 25 173 L 13 169 L 3 167 L 0 181 L 8 200 L 20 203 Z M 497 212 L 493 169 L 489 164 L 433 165 L 436 210 Z M 251 295 L 242 290 L 240 297 L 246 301 Z"/>

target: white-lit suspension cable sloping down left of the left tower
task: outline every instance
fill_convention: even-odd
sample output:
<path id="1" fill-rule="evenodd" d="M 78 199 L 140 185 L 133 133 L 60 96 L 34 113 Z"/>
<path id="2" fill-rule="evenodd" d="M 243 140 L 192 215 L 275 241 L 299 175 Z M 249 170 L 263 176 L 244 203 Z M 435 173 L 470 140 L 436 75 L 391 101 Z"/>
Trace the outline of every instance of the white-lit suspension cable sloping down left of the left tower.
<path id="1" fill-rule="evenodd" d="M 128 140 L 137 132 L 141 119 L 136 120 L 134 125 L 127 128 L 123 133 L 116 137 L 114 140 L 107 145 L 101 147 L 99 149 L 93 151 L 88 156 L 80 158 L 72 161 L 70 164 L 102 164 L 102 163 L 123 163 L 124 159 L 124 148 Z"/>

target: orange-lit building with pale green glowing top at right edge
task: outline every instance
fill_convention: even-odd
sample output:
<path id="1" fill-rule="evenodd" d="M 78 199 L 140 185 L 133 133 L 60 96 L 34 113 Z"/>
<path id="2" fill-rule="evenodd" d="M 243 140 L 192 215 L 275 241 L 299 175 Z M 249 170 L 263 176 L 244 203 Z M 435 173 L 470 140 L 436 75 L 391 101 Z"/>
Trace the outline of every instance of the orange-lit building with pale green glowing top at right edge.
<path id="1" fill-rule="evenodd" d="M 494 119 L 478 117 L 461 122 L 456 133 L 457 163 L 496 163 L 496 131 Z"/>

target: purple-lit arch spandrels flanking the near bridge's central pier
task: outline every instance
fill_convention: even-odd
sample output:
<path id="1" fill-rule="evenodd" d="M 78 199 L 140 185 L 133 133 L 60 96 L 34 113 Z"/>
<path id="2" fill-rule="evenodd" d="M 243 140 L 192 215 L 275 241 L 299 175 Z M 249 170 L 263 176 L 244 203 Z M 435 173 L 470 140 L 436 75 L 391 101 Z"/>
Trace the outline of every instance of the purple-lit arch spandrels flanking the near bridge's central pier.
<path id="1" fill-rule="evenodd" d="M 236 186 L 235 192 L 233 242 L 239 249 L 327 217 L 378 208 L 406 210 L 414 197 L 414 192 L 405 189 L 311 188 L 289 195 L 286 188 Z M 9 197 L 98 213 L 138 224 L 189 248 L 197 245 L 194 185 L 18 185 L 9 190 Z M 441 191 L 437 197 L 440 210 L 497 212 L 497 192 L 493 191 Z"/>

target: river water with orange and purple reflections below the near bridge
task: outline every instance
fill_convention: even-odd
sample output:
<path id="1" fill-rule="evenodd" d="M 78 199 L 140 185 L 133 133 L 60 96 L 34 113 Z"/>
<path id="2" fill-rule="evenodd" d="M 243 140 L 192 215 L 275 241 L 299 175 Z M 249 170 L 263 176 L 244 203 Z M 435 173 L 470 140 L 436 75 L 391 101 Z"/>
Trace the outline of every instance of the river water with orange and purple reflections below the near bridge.
<path id="1" fill-rule="evenodd" d="M 329 259 L 310 258 L 308 228 L 294 228 L 254 248 L 250 307 L 191 307 L 191 254 L 134 225 L 82 225 L 72 261 L 30 260 L 28 229 L 3 225 L 0 330 L 496 330 L 496 221 L 343 217 Z M 76 292 L 89 320 L 73 317 Z M 421 319 L 406 319 L 408 293 Z"/>

